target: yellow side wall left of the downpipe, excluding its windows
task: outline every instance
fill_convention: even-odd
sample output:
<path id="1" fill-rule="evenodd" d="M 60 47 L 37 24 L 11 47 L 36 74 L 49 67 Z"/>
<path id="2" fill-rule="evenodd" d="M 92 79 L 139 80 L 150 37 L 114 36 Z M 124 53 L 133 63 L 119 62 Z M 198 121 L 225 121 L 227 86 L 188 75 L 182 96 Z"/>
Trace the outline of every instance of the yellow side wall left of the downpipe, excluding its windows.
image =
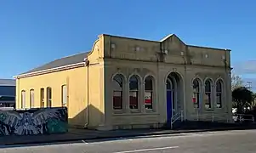
<path id="1" fill-rule="evenodd" d="M 44 88 L 46 106 L 46 88 L 52 88 L 52 106 L 61 104 L 61 86 L 67 85 L 69 123 L 84 126 L 87 123 L 87 71 L 86 67 L 67 71 L 58 71 L 35 77 L 25 77 L 16 80 L 16 107 L 21 107 L 21 91 L 26 90 L 26 108 L 30 105 L 30 90 L 34 89 L 35 107 L 40 107 L 40 88 Z"/>

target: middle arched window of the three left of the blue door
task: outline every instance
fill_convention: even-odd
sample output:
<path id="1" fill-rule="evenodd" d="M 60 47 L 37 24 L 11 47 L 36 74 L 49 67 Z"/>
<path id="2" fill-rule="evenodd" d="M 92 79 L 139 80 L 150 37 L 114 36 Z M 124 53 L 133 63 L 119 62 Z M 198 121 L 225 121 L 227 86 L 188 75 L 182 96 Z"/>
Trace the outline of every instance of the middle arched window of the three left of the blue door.
<path id="1" fill-rule="evenodd" d="M 129 105 L 130 109 L 139 109 L 139 81 L 137 76 L 129 79 Z"/>

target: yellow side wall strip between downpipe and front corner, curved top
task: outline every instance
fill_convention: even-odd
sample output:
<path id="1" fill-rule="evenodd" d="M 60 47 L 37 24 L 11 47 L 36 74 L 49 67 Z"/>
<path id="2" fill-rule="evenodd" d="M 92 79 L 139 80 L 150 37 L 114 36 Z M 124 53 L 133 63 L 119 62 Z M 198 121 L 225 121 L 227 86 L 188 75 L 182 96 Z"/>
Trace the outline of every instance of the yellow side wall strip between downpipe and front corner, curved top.
<path id="1" fill-rule="evenodd" d="M 103 37 L 94 42 L 92 51 L 88 54 L 88 99 L 89 99 L 89 126 L 101 129 L 105 127 L 105 83 L 104 65 L 102 62 Z"/>

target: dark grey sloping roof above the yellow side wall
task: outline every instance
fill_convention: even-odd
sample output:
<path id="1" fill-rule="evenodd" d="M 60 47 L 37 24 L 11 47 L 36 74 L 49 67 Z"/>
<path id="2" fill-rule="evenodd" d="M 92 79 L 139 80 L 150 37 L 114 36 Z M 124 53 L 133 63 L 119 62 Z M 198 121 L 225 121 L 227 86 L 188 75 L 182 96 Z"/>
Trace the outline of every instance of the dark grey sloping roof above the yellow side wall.
<path id="1" fill-rule="evenodd" d="M 55 59 L 52 62 L 49 62 L 45 65 L 39 66 L 35 69 L 32 69 L 31 71 L 26 71 L 25 73 L 21 73 L 20 75 L 32 73 L 32 72 L 36 72 L 36 71 L 44 71 L 44 70 L 53 69 L 53 68 L 60 67 L 60 66 L 65 66 L 65 65 L 77 64 L 77 63 L 83 62 L 84 59 L 87 58 L 88 53 L 89 52 L 81 53 L 81 54 L 74 54 L 74 55 L 67 56 L 67 57 L 64 57 L 61 59 Z"/>

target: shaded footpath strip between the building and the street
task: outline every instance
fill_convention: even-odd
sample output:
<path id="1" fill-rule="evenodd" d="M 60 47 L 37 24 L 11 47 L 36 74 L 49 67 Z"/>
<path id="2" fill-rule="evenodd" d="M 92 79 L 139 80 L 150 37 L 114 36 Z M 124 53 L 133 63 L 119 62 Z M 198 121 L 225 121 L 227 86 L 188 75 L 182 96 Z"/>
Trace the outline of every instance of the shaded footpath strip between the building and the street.
<path id="1" fill-rule="evenodd" d="M 179 133 L 198 133 L 220 130 L 242 130 L 244 127 L 221 127 L 212 129 L 193 129 L 193 130 L 163 130 L 163 129 L 137 129 L 137 130 L 115 130 L 115 131 L 96 131 L 87 129 L 70 128 L 68 133 L 51 135 L 29 135 L 29 136 L 3 136 L 0 137 L 0 145 L 13 144 L 43 144 L 60 143 L 78 140 L 93 139 L 113 139 L 127 137 L 145 137 L 161 134 L 179 134 Z"/>

